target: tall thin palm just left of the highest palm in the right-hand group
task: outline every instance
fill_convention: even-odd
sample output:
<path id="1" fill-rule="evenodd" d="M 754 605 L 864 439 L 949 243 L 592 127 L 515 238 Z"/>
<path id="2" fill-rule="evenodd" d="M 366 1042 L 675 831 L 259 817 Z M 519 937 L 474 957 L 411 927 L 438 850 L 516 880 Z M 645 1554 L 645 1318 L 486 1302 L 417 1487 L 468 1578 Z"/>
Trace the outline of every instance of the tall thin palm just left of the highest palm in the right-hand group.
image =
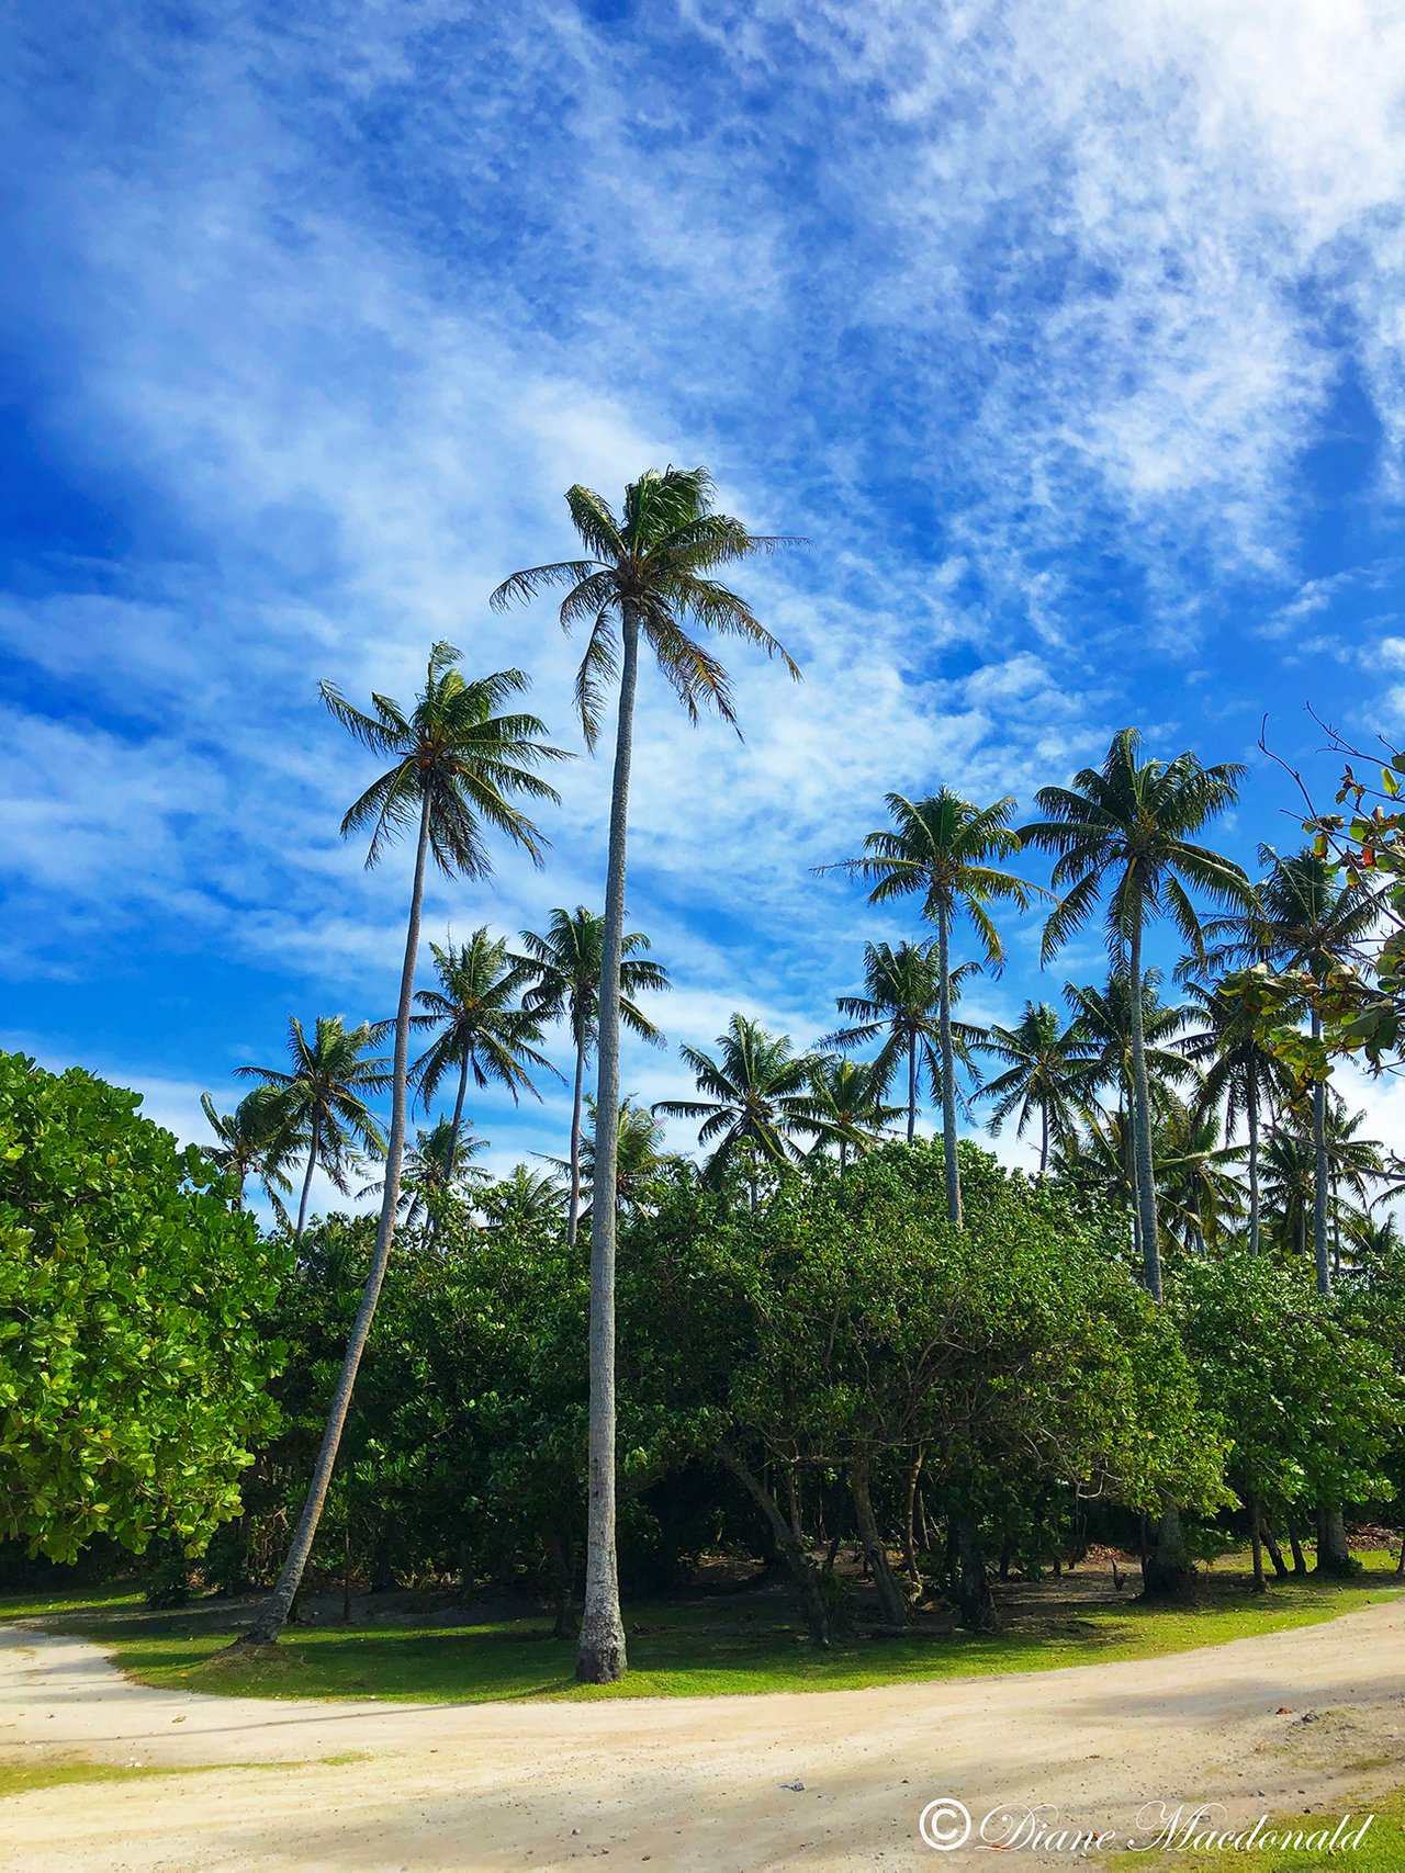
<path id="1" fill-rule="evenodd" d="M 946 1214 L 961 1225 L 961 1165 L 955 1156 L 955 1045 L 952 1036 L 952 933 L 959 918 L 976 931 L 991 968 L 1004 963 L 1004 942 L 991 920 L 995 905 L 1028 908 L 1030 886 L 998 860 L 1019 850 L 1010 828 L 1012 796 L 978 807 L 950 787 L 925 800 L 886 796 L 894 824 L 864 839 L 864 856 L 843 860 L 839 869 L 871 882 L 869 903 L 922 897 L 924 916 L 937 925 L 939 1049 L 942 1062 L 942 1154 Z M 1036 886 L 1038 890 L 1038 886 Z"/>

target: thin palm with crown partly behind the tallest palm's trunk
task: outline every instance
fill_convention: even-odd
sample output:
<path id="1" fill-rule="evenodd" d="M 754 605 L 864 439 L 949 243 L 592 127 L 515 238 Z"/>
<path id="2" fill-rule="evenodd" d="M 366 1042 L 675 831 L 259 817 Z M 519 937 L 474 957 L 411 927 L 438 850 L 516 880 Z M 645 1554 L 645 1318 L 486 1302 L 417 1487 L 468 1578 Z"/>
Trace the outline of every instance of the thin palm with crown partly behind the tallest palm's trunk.
<path id="1" fill-rule="evenodd" d="M 663 1045 L 663 1036 L 633 1000 L 644 989 L 667 989 L 669 972 L 661 963 L 650 963 L 639 951 L 648 950 L 643 931 L 626 931 L 620 938 L 620 1019 L 641 1040 Z M 541 1021 L 568 1021 L 575 1047 L 575 1083 L 571 1090 L 571 1201 L 566 1238 L 575 1247 L 581 1216 L 581 1098 L 584 1068 L 599 1026 L 599 966 L 605 955 L 605 918 L 584 905 L 575 910 L 553 910 L 543 936 L 523 931 L 525 957 L 519 957 L 530 987 L 523 998 Z"/>

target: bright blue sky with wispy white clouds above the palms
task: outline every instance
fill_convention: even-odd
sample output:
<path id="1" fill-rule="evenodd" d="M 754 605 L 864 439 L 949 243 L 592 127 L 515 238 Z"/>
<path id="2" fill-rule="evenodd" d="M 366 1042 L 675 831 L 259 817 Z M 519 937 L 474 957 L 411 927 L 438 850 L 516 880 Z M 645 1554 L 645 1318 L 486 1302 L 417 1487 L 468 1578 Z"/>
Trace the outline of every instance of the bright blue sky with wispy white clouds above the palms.
<path id="1" fill-rule="evenodd" d="M 403 863 L 337 837 L 365 757 L 317 680 L 569 549 L 562 491 L 706 463 L 809 538 L 746 575 L 804 665 L 732 657 L 746 742 L 646 682 L 631 922 L 671 1043 L 809 1041 L 899 935 L 839 880 L 888 789 L 1068 774 L 1137 723 L 1246 759 L 1223 843 L 1293 839 L 1253 742 L 1405 732 L 1405 21 L 1368 0 L 463 7 L 30 4 L 4 47 L 0 1030 L 146 1092 L 388 1011 Z M 1399 671 L 1399 687 L 1392 671 Z M 1384 676 L 1383 676 L 1384 671 Z M 427 931 L 598 905 L 605 764 L 436 884 Z M 1038 929 L 978 1015 L 1051 978 Z M 635 1051 L 644 1098 L 682 1088 Z M 1390 1096 L 1366 1088 L 1381 1126 Z M 495 1161 L 564 1099 L 487 1098 Z"/>

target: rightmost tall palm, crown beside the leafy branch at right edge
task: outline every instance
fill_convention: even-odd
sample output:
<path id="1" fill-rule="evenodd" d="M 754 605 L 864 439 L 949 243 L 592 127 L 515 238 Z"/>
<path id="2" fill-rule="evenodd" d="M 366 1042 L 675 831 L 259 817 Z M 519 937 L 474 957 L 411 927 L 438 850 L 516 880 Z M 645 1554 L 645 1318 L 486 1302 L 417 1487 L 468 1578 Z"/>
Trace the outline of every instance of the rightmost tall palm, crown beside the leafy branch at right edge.
<path id="1" fill-rule="evenodd" d="M 1369 936 L 1379 907 L 1371 892 L 1356 884 L 1338 882 L 1336 867 L 1317 852 L 1294 852 L 1279 858 L 1272 847 L 1259 847 L 1259 862 L 1268 865 L 1268 877 L 1259 886 L 1263 907 L 1263 948 L 1285 968 L 1306 970 L 1321 983 L 1334 963 L 1341 961 L 1353 944 Z M 1323 1017 L 1317 998 L 1309 998 L 1313 1040 L 1321 1038 Z M 1326 1154 L 1326 1077 L 1313 1081 L 1313 1259 L 1317 1262 L 1317 1290 L 1332 1289 L 1332 1261 L 1328 1255 L 1330 1167 Z"/>

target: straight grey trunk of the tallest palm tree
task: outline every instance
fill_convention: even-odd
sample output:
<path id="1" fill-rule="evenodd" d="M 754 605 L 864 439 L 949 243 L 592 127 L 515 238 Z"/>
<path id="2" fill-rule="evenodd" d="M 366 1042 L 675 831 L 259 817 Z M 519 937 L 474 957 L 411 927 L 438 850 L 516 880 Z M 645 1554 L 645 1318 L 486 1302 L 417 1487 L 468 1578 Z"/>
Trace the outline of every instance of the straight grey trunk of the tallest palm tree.
<path id="1" fill-rule="evenodd" d="M 605 875 L 605 931 L 599 959 L 599 1077 L 596 1081 L 596 1165 L 590 1184 L 590 1482 L 586 1495 L 586 1590 L 575 1676 L 614 1684 L 629 1669 L 620 1618 L 614 1553 L 614 1219 L 620 1161 L 620 950 L 624 946 L 624 852 L 629 815 L 639 612 L 622 605 L 624 661 L 614 732 L 611 843 Z"/>

